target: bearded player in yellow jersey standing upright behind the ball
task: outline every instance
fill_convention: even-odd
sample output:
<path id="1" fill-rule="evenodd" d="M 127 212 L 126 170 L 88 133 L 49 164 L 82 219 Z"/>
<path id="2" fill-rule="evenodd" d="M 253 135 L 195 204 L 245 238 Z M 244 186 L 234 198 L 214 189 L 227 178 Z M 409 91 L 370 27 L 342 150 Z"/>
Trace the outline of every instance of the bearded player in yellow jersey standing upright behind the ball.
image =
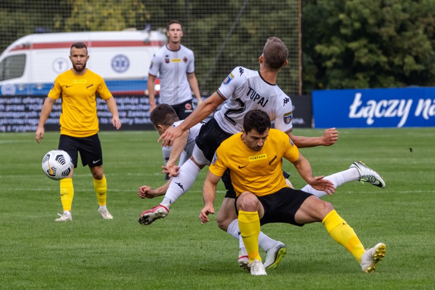
<path id="1" fill-rule="evenodd" d="M 89 59 L 86 44 L 73 43 L 69 59 L 72 69 L 60 74 L 45 99 L 36 130 L 36 142 L 44 137 L 44 124 L 49 117 L 53 105 L 62 98 L 62 114 L 60 115 L 59 149 L 71 156 L 74 167 L 78 164 L 78 153 L 83 166 L 88 165 L 93 177 L 93 185 L 98 199 L 99 212 L 105 219 L 112 219 L 106 207 L 107 182 L 103 172 L 103 153 L 98 137 L 99 125 L 96 116 L 96 93 L 105 100 L 112 114 L 112 125 L 119 129 L 121 122 L 118 116 L 116 101 L 106 86 L 103 78 L 86 69 Z M 72 220 L 71 204 L 74 196 L 72 173 L 60 181 L 60 199 L 63 214 L 56 221 Z"/>

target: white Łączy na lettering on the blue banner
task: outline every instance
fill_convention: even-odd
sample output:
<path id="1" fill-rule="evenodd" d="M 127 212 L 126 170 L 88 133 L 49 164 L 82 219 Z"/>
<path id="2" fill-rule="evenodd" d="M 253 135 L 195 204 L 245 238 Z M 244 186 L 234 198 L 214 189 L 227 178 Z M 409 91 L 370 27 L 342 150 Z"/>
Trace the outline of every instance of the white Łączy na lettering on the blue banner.
<path id="1" fill-rule="evenodd" d="M 361 106 L 361 93 L 356 93 L 353 103 L 349 107 L 349 118 L 358 119 L 365 118 L 368 125 L 374 123 L 373 118 L 394 118 L 401 117 L 398 128 L 402 127 L 408 119 L 411 106 L 413 104 L 412 99 L 408 100 L 367 100 L 365 106 Z M 422 117 L 428 120 L 430 117 L 435 116 L 435 100 L 431 99 L 419 99 L 417 108 L 414 112 L 414 116 Z"/>

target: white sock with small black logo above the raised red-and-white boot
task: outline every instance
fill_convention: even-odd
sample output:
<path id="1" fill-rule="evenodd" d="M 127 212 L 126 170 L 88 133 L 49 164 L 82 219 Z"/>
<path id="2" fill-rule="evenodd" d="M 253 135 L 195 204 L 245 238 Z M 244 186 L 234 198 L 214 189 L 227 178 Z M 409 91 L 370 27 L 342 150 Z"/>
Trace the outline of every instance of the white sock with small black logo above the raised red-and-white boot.
<path id="1" fill-rule="evenodd" d="M 179 169 L 179 174 L 172 178 L 171 184 L 164 195 L 160 205 L 167 207 L 175 203 L 181 195 L 186 193 L 197 178 L 200 168 L 190 159 L 187 160 Z"/>

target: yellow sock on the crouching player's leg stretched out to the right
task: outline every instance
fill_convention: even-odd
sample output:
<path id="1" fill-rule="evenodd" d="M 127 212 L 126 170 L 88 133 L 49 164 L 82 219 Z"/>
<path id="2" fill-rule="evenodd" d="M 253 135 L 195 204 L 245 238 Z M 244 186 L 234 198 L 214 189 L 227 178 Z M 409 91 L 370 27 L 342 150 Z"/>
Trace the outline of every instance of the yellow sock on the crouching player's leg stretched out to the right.
<path id="1" fill-rule="evenodd" d="M 360 263 L 361 256 L 364 253 L 364 246 L 346 220 L 337 214 L 335 210 L 332 210 L 325 216 L 322 224 L 334 241 L 344 246 Z"/>

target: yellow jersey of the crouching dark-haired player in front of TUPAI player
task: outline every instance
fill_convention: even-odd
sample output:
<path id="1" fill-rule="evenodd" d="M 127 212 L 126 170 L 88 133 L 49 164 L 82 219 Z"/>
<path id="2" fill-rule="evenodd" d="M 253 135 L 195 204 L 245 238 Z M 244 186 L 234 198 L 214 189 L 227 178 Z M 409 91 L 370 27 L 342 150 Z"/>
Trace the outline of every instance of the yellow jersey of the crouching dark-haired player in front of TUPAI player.
<path id="1" fill-rule="evenodd" d="M 222 142 L 210 165 L 211 173 L 222 176 L 230 169 L 237 196 L 244 191 L 263 196 L 288 187 L 282 175 L 282 158 L 298 160 L 299 149 L 287 134 L 270 129 L 260 151 L 248 148 L 240 137 L 241 133 L 237 133 Z"/>

